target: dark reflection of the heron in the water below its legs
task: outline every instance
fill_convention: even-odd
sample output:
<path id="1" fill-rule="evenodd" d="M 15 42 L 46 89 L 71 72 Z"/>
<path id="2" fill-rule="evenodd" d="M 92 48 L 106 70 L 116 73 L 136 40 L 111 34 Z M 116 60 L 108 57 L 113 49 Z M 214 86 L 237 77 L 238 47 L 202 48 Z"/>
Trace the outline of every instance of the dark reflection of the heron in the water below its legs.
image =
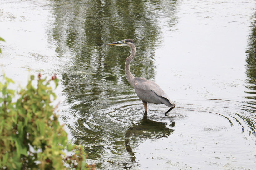
<path id="1" fill-rule="evenodd" d="M 171 122 L 171 127 L 175 127 L 175 122 Z M 165 126 L 165 123 L 156 122 L 147 118 L 147 113 L 144 113 L 143 119 L 133 124 L 125 133 L 125 147 L 126 151 L 131 156 L 131 161 L 136 162 L 136 157 L 132 151 L 130 145 L 130 138 L 135 136 L 136 138 L 161 138 L 169 136 L 173 132 L 173 129 L 169 129 Z M 138 140 L 138 139 L 136 139 Z"/>

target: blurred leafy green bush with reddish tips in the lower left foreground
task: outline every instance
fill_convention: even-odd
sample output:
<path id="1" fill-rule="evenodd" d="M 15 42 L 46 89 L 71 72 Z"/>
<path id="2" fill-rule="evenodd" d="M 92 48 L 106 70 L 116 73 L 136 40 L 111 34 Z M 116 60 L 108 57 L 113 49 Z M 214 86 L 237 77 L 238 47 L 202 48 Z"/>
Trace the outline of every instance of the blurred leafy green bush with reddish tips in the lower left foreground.
<path id="1" fill-rule="evenodd" d="M 83 147 L 68 143 L 51 105 L 56 95 L 50 83 L 57 87 L 59 80 L 39 74 L 35 88 L 34 78 L 19 92 L 8 89 L 11 79 L 4 76 L 0 82 L 0 169 L 94 169 L 86 164 Z"/>

